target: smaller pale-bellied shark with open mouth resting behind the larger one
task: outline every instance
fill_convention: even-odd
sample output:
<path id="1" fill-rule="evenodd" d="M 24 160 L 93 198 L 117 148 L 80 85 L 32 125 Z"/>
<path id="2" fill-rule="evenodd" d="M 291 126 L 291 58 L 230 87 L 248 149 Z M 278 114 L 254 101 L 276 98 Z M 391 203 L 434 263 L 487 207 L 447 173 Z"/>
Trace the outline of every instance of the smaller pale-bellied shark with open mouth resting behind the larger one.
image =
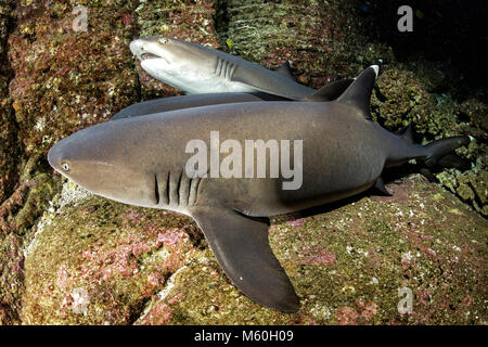
<path id="1" fill-rule="evenodd" d="M 300 100 L 316 92 L 296 82 L 286 67 L 272 72 L 241 57 L 179 39 L 141 38 L 130 43 L 130 50 L 147 74 L 190 94 L 261 91 Z"/>

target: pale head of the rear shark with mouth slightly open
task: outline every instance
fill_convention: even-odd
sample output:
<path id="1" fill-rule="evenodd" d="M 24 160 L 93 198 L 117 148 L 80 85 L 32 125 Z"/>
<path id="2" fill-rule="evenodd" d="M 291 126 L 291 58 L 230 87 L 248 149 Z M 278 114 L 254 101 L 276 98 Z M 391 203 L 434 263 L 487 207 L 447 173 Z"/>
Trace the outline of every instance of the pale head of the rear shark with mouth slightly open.
<path id="1" fill-rule="evenodd" d="M 218 51 L 203 46 L 151 37 L 133 40 L 130 50 L 147 74 L 188 93 L 252 91 L 231 82 L 229 75 L 219 68 Z"/>

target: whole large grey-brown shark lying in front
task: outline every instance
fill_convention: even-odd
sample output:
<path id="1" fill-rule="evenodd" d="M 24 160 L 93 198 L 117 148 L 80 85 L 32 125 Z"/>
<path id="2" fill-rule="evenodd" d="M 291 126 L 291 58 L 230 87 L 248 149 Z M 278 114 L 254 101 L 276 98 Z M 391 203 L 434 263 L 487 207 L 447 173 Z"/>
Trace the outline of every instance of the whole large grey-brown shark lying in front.
<path id="1" fill-rule="evenodd" d="M 123 118 L 80 130 L 49 152 L 51 166 L 94 194 L 191 216 L 227 277 L 256 303 L 295 312 L 299 298 L 268 243 L 262 218 L 382 188 L 385 167 L 411 158 L 437 163 L 468 137 L 413 144 L 370 120 L 377 67 L 367 68 L 333 102 L 245 102 Z M 194 139 L 301 139 L 303 184 L 285 178 L 189 178 Z M 269 155 L 267 156 L 268 167 Z M 256 164 L 256 157 L 255 157 Z M 383 187 L 384 188 L 384 187 Z M 386 190 L 385 190 L 386 192 Z M 265 218 L 266 219 L 266 218 Z"/>

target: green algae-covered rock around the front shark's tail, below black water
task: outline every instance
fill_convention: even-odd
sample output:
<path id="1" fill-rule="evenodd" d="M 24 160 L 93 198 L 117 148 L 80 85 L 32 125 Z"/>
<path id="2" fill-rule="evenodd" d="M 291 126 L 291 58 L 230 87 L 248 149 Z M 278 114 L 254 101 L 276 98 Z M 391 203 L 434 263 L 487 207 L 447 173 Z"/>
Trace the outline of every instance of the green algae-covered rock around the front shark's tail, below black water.
<path id="1" fill-rule="evenodd" d="M 488 152 L 485 124 L 479 120 L 486 118 L 486 105 L 473 99 L 459 104 L 450 94 L 429 93 L 421 77 L 403 68 L 399 65 L 380 76 L 371 101 L 373 119 L 391 131 L 412 124 L 414 138 L 421 143 L 459 134 L 475 137 L 476 141 L 457 151 L 473 163 L 472 168 L 464 172 L 445 169 L 437 178 L 487 216 L 484 172 Z M 468 184 L 463 177 L 472 177 Z"/>

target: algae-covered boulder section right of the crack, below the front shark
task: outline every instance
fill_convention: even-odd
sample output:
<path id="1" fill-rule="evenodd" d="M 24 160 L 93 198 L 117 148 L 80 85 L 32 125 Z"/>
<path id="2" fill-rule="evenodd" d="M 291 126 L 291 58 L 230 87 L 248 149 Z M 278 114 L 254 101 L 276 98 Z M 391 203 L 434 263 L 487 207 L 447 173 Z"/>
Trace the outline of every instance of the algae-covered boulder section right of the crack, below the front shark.
<path id="1" fill-rule="evenodd" d="M 300 297 L 281 313 L 243 296 L 209 249 L 178 271 L 138 324 L 479 324 L 485 220 L 421 177 L 325 214 L 272 219 L 271 247 Z M 413 311 L 400 313 L 400 288 Z"/>

